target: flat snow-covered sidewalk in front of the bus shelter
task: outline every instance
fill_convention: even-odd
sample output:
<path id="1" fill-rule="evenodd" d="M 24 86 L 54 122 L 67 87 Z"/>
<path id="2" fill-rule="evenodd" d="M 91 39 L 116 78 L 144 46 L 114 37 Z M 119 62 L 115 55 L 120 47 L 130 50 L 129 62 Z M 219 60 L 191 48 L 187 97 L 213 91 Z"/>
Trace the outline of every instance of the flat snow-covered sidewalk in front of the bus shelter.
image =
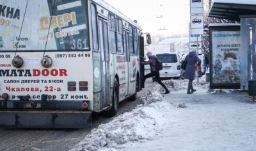
<path id="1" fill-rule="evenodd" d="M 209 93 L 202 86 L 194 87 L 193 94 L 184 89 L 164 95 L 173 106 L 185 103 L 187 107 L 178 107 L 154 140 L 120 150 L 255 150 L 256 104 L 248 93 Z"/>

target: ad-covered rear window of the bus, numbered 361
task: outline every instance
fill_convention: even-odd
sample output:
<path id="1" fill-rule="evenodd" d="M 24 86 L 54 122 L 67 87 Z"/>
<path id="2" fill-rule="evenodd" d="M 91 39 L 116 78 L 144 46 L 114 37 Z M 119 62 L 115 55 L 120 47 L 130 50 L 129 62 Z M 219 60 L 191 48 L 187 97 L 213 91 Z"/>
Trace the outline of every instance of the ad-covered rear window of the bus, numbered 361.
<path id="1" fill-rule="evenodd" d="M 24 2 L 2 3 L 13 11 L 1 17 L 0 51 L 90 50 L 87 1 Z"/>

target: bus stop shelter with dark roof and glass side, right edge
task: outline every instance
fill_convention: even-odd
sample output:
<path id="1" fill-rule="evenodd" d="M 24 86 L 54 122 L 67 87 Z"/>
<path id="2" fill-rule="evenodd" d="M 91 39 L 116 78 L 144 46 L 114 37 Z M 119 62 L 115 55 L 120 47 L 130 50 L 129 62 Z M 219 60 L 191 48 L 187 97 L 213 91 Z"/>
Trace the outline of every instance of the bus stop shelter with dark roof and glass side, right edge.
<path id="1" fill-rule="evenodd" d="M 256 95 L 256 1 L 214 0 L 208 17 L 240 22 L 240 88 Z"/>

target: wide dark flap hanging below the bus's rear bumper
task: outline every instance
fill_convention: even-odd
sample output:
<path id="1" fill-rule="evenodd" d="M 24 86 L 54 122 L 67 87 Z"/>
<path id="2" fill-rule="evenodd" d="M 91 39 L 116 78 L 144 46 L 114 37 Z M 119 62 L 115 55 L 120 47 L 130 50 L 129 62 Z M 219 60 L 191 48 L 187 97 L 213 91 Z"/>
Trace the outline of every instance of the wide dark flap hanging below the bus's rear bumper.
<path id="1" fill-rule="evenodd" d="M 5 128 L 92 128 L 91 111 L 0 111 Z"/>

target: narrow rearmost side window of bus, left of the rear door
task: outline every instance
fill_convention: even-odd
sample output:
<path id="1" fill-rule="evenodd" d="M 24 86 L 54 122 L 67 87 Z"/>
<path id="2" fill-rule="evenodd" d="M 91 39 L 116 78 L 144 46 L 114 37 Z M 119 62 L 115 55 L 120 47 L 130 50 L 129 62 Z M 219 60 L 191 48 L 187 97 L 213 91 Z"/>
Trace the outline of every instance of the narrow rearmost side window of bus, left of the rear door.
<path id="1" fill-rule="evenodd" d="M 97 31 L 97 13 L 95 4 L 91 4 L 92 10 L 92 36 L 93 36 L 93 50 L 99 51 L 98 31 Z"/>

